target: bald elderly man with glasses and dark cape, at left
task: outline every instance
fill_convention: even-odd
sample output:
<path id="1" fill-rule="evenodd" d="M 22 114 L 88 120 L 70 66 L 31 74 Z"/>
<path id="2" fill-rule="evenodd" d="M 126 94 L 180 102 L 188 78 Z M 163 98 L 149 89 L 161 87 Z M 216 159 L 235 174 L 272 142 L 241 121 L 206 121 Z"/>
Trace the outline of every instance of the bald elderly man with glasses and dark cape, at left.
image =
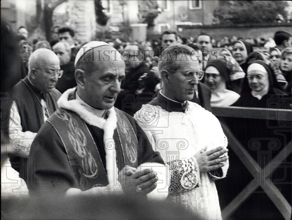
<path id="1" fill-rule="evenodd" d="M 37 49 L 29 57 L 28 75 L 10 93 L 8 138 L 17 152 L 17 155 L 11 156 L 10 161 L 27 184 L 30 173 L 26 157 L 36 133 L 57 109 L 57 100 L 61 93 L 55 86 L 62 72 L 58 56 L 53 51 Z"/>

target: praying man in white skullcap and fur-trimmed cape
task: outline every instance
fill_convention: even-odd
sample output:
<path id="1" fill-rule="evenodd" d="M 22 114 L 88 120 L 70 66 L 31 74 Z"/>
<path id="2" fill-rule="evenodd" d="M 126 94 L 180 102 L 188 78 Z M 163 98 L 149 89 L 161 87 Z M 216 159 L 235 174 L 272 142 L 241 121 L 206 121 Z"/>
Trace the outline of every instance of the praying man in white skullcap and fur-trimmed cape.
<path id="1" fill-rule="evenodd" d="M 92 41 L 78 51 L 74 64 L 77 88 L 62 94 L 59 109 L 36 135 L 43 147 L 35 152 L 35 185 L 45 195 L 146 196 L 158 190 L 160 180 L 166 192 L 156 190 L 154 197 L 165 198 L 163 160 L 133 118 L 114 108 L 125 77 L 119 52 Z"/>

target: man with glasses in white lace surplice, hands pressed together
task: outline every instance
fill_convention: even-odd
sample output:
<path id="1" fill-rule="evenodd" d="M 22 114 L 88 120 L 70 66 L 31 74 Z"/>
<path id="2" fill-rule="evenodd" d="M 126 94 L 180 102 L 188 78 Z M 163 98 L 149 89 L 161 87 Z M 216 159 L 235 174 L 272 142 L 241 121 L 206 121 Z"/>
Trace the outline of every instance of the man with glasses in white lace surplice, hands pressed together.
<path id="1" fill-rule="evenodd" d="M 198 58 L 191 47 L 167 47 L 158 61 L 162 90 L 134 118 L 168 164 L 168 198 L 202 219 L 217 220 L 221 212 L 214 180 L 227 173 L 227 138 L 212 113 L 190 102 L 204 77 Z"/>

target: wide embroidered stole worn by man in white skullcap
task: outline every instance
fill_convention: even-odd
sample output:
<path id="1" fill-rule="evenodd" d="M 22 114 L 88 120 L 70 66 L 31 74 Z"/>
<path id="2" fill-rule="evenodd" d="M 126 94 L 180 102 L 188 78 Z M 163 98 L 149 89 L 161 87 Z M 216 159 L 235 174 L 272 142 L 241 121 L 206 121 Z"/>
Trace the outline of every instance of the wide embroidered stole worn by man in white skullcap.
<path id="1" fill-rule="evenodd" d="M 96 143 L 99 141 L 94 140 L 86 123 L 73 111 L 58 109 L 55 114 L 57 117 L 49 118 L 48 122 L 57 131 L 65 147 L 76 180 L 74 185 L 76 184 L 81 190 L 108 185 L 105 158 L 100 156 Z M 122 111 L 116 110 L 116 114 L 119 118 L 113 138 L 116 154 L 112 156 L 117 161 L 118 169 L 121 170 L 126 164 L 137 166 L 138 140 L 131 123 L 126 116 L 123 116 Z M 104 147 L 112 146 L 114 146 L 113 142 L 107 142 L 107 146 Z"/>

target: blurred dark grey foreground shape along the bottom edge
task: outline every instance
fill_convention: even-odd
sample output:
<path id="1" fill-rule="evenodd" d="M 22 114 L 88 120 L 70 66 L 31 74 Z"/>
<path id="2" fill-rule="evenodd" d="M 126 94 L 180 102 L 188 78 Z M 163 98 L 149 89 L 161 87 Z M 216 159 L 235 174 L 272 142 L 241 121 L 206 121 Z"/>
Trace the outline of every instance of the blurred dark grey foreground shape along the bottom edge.
<path id="1" fill-rule="evenodd" d="M 40 196 L 40 195 L 39 195 Z M 25 202 L 11 200 L 2 219 L 177 219 L 200 220 L 179 204 L 168 201 L 147 201 L 140 194 L 83 195 L 33 197 Z M 1 207 L 3 210 L 3 206 Z"/>

